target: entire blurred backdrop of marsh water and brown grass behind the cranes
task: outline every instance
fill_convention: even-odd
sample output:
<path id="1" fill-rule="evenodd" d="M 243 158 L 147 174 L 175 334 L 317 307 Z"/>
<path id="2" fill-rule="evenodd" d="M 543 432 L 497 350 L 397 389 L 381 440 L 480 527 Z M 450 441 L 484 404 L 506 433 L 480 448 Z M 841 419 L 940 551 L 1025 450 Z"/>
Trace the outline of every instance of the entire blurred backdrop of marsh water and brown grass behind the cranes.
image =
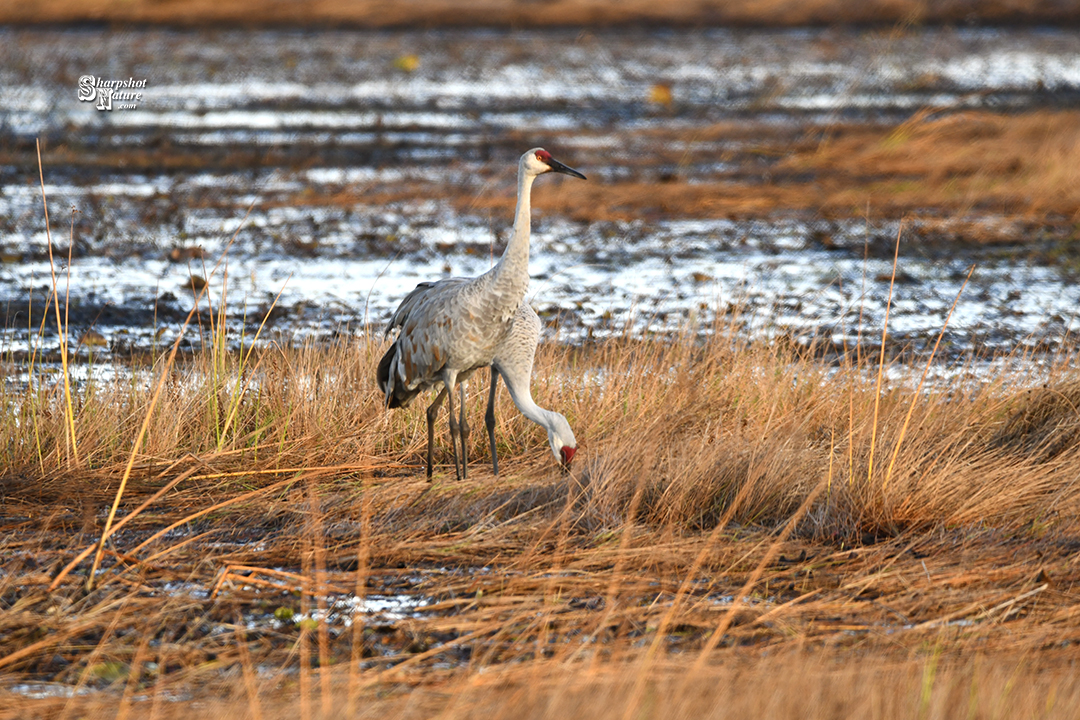
<path id="1" fill-rule="evenodd" d="M 40 140 L 80 353 L 152 352 L 227 245 L 206 310 L 238 338 L 268 313 L 279 341 L 381 330 L 417 282 L 498 258 L 536 146 L 589 176 L 534 192 L 551 340 L 738 312 L 839 348 L 883 322 L 899 235 L 897 347 L 933 342 L 974 266 L 946 355 L 1053 352 L 1080 329 L 1078 19 L 1051 0 L 11 3 L 3 350 L 51 294 Z M 108 109 L 102 81 L 133 86 Z"/>

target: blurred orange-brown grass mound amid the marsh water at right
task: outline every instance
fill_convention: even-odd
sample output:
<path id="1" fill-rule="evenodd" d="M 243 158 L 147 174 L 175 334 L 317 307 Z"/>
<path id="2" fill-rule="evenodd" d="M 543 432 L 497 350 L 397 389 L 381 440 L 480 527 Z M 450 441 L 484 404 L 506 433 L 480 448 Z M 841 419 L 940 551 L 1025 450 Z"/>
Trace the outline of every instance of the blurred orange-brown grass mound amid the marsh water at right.
<path id="1" fill-rule="evenodd" d="M 990 209 L 1039 216 L 1080 213 L 1080 114 L 917 113 L 886 135 L 856 128 L 785 164 L 837 177 L 826 204 Z M 880 178 L 888 178 L 881 180 Z"/>

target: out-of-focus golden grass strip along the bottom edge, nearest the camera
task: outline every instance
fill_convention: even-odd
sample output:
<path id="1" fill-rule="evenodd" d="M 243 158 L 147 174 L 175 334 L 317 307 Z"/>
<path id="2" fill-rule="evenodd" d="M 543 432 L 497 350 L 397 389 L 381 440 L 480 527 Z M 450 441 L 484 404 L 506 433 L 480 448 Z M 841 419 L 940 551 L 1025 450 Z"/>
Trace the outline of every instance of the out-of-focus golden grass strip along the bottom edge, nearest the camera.
<path id="1" fill-rule="evenodd" d="M 685 663 L 664 663 L 630 708 L 635 694 L 632 667 L 605 667 L 581 673 L 556 663 L 505 668 L 463 680 L 440 680 L 416 689 L 399 685 L 380 695 L 365 696 L 352 712 L 340 688 L 326 718 L 882 718 L 951 720 L 972 718 L 1076 717 L 1080 695 L 1068 667 L 1047 667 L 1025 655 L 958 663 L 940 660 L 932 648 L 907 662 L 846 660 L 822 662 L 811 653 L 751 657 L 706 668 L 687 680 Z M 335 685 L 340 682 L 336 681 Z M 64 703 L 40 703 L 30 717 L 63 711 Z M 24 708 L 21 708 L 21 711 Z M 113 718 L 116 707 L 102 702 L 78 706 L 79 717 Z M 125 717 L 150 717 L 136 707 Z M 254 712 L 238 693 L 231 698 L 206 697 L 188 703 L 161 703 L 153 717 L 248 718 L 305 717 L 295 693 L 281 693 Z M 314 704 L 307 717 L 319 715 Z"/>

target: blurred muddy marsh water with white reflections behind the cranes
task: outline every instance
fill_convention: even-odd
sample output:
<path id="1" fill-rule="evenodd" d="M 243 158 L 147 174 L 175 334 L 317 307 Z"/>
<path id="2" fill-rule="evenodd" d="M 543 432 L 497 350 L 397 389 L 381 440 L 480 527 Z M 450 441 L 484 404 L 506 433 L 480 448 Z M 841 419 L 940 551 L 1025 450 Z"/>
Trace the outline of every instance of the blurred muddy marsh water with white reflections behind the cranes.
<path id="1" fill-rule="evenodd" d="M 145 83 L 124 91 L 140 93 L 132 107 L 98 110 L 79 99 L 85 74 Z M 190 277 L 227 246 L 208 302 L 226 299 L 238 337 L 271 305 L 265 338 L 362 332 L 417 282 L 491 266 L 511 213 L 450 198 L 510 192 L 529 147 L 590 182 L 764 180 L 774 158 L 703 132 L 1077 107 L 1080 32 L 5 29 L 0 96 L 3 350 L 26 351 L 52 288 L 40 138 L 72 343 L 121 355 L 175 337 Z M 1053 349 L 1080 329 L 1080 243 L 963 219 L 998 242 L 904 226 L 894 338 L 934 338 L 972 264 L 954 351 Z M 738 309 L 751 335 L 845 342 L 885 320 L 900 230 L 784 208 L 589 221 L 538 201 L 528 297 L 561 341 L 707 327 Z M 44 332 L 55 347 L 55 324 Z"/>

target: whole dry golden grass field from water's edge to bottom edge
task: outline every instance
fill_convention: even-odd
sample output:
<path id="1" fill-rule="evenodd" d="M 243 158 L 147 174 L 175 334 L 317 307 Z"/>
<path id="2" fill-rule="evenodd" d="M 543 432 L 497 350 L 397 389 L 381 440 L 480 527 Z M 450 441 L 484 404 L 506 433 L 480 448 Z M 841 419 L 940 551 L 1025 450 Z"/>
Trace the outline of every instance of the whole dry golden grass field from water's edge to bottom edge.
<path id="1" fill-rule="evenodd" d="M 0 714 L 1071 717 L 1067 358 L 1035 390 L 1022 367 L 878 393 L 873 353 L 747 344 L 727 322 L 541 348 L 537 399 L 582 445 L 570 477 L 503 394 L 504 475 L 481 432 L 470 479 L 444 465 L 428 485 L 422 407 L 380 408 L 367 339 L 245 357 L 210 336 L 178 367 L 77 388 L 73 418 L 55 378 L 6 385 L 0 673 L 96 692 Z M 146 417 L 86 593 L 89 560 L 66 566 L 102 533 Z M 257 572 L 229 581 L 235 566 Z M 420 583 L 438 604 L 389 635 L 238 622 L 424 568 L 460 570 Z"/>

